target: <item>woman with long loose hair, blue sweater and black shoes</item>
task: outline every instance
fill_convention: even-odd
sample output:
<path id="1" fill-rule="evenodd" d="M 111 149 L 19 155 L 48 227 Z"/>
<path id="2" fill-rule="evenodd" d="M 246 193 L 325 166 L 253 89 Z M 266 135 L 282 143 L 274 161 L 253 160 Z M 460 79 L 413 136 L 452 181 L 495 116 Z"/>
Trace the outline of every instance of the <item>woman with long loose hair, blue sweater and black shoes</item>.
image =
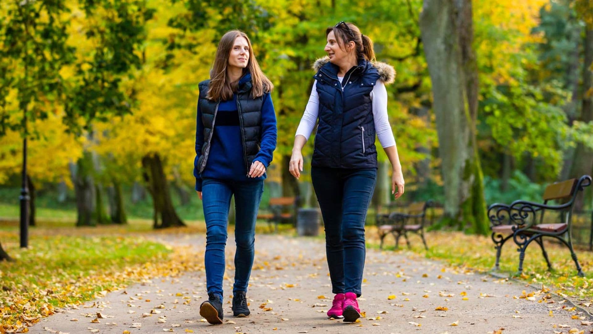
<path id="1" fill-rule="evenodd" d="M 273 85 L 262 73 L 247 35 L 231 30 L 218 43 L 211 79 L 199 83 L 193 174 L 206 220 L 206 289 L 200 315 L 223 319 L 227 219 L 235 197 L 235 283 L 232 311 L 250 314 L 246 292 L 254 257 L 255 223 L 266 168 L 276 148 Z"/>

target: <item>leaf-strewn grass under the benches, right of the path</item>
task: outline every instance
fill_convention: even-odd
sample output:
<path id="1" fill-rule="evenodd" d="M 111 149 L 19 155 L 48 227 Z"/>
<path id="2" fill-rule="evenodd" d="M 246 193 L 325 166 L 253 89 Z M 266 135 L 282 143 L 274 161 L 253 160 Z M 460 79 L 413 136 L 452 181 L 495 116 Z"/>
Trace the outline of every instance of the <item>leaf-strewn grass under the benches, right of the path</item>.
<path id="1" fill-rule="evenodd" d="M 379 238 L 375 226 L 367 226 L 367 243 L 371 248 L 379 247 Z M 415 234 L 409 234 L 410 244 L 414 253 L 429 259 L 443 260 L 458 270 L 479 270 L 490 272 L 495 264 L 496 250 L 490 236 L 467 235 L 463 232 L 435 231 L 426 234 L 426 251 L 422 240 Z M 544 238 L 544 242 L 546 238 Z M 548 238 L 550 240 L 550 238 Z M 395 241 L 386 237 L 385 250 L 394 250 Z M 407 249 L 406 241 L 400 238 L 400 249 Z M 565 246 L 546 242 L 546 251 L 553 266 L 553 271 L 547 270 L 546 260 L 541 255 L 541 248 L 531 244 L 525 252 L 523 275 L 517 276 L 519 252 L 517 246 L 509 240 L 502 248 L 500 256 L 499 274 L 509 275 L 523 282 L 536 286 L 542 284 L 550 291 L 570 297 L 571 300 L 593 303 L 593 253 L 582 249 L 575 250 L 581 263 L 585 277 L 576 276 L 575 263 L 570 257 L 570 251 Z"/>

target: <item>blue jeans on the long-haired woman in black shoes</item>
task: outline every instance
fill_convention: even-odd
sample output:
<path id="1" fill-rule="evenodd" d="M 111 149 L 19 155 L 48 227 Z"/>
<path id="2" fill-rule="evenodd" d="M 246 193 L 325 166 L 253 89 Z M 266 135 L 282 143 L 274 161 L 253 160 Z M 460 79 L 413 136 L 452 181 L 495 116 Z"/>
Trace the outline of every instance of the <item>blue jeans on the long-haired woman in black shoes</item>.
<path id="1" fill-rule="evenodd" d="M 235 196 L 235 284 L 232 291 L 247 291 L 253 266 L 257 209 L 262 200 L 263 180 L 224 181 L 203 179 L 202 204 L 206 220 L 206 289 L 222 298 L 225 270 L 228 210 Z"/>

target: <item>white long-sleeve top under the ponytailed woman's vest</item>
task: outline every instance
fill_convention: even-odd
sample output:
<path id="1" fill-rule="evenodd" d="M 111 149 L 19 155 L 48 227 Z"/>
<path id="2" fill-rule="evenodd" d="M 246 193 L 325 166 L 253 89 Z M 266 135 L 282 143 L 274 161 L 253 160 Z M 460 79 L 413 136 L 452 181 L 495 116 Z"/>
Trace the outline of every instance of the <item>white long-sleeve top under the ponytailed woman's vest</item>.
<path id="1" fill-rule="evenodd" d="M 342 81 L 343 77 L 338 77 L 338 79 Z M 313 132 L 313 129 L 315 128 L 315 124 L 317 124 L 317 116 L 319 115 L 319 96 L 317 95 L 316 87 L 317 80 L 315 80 L 315 83 L 313 84 L 309 102 L 307 102 L 305 112 L 302 115 L 295 137 L 300 134 L 308 140 L 311 136 L 311 132 Z M 377 133 L 377 137 L 379 137 L 381 146 L 384 149 L 390 146 L 395 146 L 396 138 L 393 137 L 391 125 L 389 124 L 389 117 L 387 115 L 387 89 L 385 89 L 385 84 L 381 80 L 377 80 L 375 87 L 373 87 L 371 100 L 375 133 Z"/>

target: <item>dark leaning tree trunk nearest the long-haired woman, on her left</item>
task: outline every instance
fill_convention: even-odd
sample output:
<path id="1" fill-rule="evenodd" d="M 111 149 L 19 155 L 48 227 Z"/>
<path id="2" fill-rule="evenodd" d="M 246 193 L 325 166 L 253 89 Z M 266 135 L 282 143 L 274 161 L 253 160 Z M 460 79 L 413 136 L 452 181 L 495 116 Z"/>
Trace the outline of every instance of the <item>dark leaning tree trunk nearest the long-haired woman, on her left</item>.
<path id="1" fill-rule="evenodd" d="M 161 157 L 146 155 L 142 157 L 142 168 L 144 168 L 144 180 L 146 188 L 152 196 L 154 206 L 154 228 L 167 228 L 173 226 L 186 226 L 177 215 L 171 192 L 169 190 L 167 177 L 162 169 Z"/>

